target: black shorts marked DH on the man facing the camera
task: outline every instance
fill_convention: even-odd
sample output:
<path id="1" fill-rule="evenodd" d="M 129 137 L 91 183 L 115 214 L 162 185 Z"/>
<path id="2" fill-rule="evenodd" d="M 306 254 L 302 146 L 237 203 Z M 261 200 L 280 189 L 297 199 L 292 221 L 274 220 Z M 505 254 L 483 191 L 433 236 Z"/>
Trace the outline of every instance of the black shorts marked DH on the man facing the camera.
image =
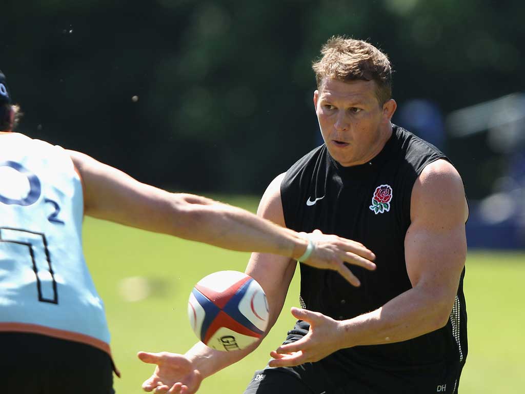
<path id="1" fill-rule="evenodd" d="M 306 333 L 308 325 L 298 322 L 285 343 Z M 451 362 L 379 366 L 336 351 L 297 367 L 259 370 L 245 394 L 456 394 L 460 373 L 460 367 Z"/>

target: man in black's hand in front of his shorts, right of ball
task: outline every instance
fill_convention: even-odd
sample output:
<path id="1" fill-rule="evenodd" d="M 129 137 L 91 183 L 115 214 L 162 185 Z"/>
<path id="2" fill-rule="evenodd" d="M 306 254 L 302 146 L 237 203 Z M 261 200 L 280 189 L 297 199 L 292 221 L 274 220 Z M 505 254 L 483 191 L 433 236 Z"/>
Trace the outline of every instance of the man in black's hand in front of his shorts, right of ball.
<path id="1" fill-rule="evenodd" d="M 310 330 L 298 341 L 272 350 L 270 356 L 274 359 L 270 360 L 270 367 L 293 367 L 319 361 L 340 349 L 338 333 L 341 328 L 337 320 L 308 309 L 292 308 L 291 312 L 299 320 L 310 323 Z"/>

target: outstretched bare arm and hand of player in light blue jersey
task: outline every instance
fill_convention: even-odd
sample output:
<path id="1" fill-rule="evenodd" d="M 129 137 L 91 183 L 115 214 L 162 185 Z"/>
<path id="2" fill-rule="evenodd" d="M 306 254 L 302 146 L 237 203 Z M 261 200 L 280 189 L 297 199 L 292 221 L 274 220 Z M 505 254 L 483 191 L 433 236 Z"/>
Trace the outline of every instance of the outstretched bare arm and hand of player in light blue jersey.
<path id="1" fill-rule="evenodd" d="M 69 153 L 83 181 L 87 215 L 237 251 L 295 259 L 306 251 L 306 237 L 250 212 L 198 195 L 169 193 L 138 182 L 86 154 Z M 358 285 L 343 261 L 373 268 L 369 261 L 373 258 L 363 245 L 333 235 L 317 239 L 304 263 L 334 269 Z"/>

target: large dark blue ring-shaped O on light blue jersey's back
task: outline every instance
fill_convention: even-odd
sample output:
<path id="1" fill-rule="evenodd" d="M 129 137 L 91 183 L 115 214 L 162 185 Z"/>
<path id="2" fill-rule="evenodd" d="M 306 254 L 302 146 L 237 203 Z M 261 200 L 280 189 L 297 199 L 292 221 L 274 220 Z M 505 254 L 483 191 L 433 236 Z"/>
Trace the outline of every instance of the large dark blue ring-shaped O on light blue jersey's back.
<path id="1" fill-rule="evenodd" d="M 2 169 L 2 167 L 11 168 L 16 172 Z M 41 185 L 40 180 L 34 173 L 26 169 L 22 164 L 14 161 L 4 161 L 0 163 L 0 171 L 0 181 L 2 181 L 2 184 L 8 186 L 10 192 L 10 195 L 6 196 L 2 194 L 2 191 L 5 192 L 4 188 L 0 189 L 0 202 L 4 204 L 28 206 L 38 201 L 41 193 Z M 27 182 L 29 182 L 29 191 L 25 196 L 22 196 L 24 191 L 27 190 Z"/>

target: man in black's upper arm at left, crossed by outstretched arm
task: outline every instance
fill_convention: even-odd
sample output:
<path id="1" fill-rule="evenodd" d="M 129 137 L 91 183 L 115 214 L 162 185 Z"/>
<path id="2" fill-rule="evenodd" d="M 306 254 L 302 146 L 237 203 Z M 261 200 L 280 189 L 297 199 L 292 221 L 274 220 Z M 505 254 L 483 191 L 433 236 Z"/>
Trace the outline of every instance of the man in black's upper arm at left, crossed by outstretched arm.
<path id="1" fill-rule="evenodd" d="M 284 175 L 279 175 L 270 183 L 257 210 L 258 216 L 283 227 L 285 227 L 285 218 L 282 211 L 280 184 Z M 251 254 L 246 273 L 260 283 L 268 298 L 270 309 L 268 328 L 275 324 L 281 312 L 296 264 L 289 257 L 268 253 Z"/>

